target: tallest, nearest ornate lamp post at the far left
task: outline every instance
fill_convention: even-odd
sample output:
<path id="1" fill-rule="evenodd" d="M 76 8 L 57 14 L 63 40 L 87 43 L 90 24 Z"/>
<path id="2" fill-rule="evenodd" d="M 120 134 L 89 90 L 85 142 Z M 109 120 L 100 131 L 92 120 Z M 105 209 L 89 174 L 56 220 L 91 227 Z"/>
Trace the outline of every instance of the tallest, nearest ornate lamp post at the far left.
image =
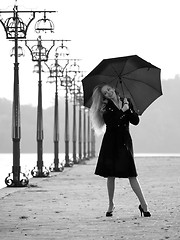
<path id="1" fill-rule="evenodd" d="M 20 166 L 20 139 L 21 139 L 21 123 L 20 123 L 20 100 L 19 100 L 19 63 L 18 63 L 18 40 L 25 39 L 30 23 L 35 18 L 35 14 L 40 12 L 55 12 L 55 11 L 19 11 L 17 4 L 14 5 L 13 11 L 0 11 L 2 14 L 12 14 L 12 17 L 3 20 L 0 18 L 6 38 L 14 41 L 14 94 L 12 108 L 12 140 L 13 140 L 13 166 L 12 173 L 5 179 L 7 186 L 24 187 L 28 184 L 28 178 L 24 173 L 21 173 Z M 25 24 L 19 17 L 19 14 L 29 14 L 28 23 Z"/>

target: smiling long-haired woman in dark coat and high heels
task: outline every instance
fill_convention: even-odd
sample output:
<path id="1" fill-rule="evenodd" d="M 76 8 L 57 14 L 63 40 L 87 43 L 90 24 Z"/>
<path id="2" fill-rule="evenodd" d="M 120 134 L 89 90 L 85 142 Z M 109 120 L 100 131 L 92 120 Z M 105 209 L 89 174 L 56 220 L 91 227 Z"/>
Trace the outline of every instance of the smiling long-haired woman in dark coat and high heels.
<path id="1" fill-rule="evenodd" d="M 140 201 L 139 210 L 144 217 L 150 217 L 146 200 L 137 179 L 133 157 L 129 123 L 137 125 L 139 117 L 127 98 L 121 98 L 114 88 L 107 84 L 94 89 L 91 120 L 95 130 L 106 125 L 106 131 L 95 170 L 96 175 L 107 178 L 109 207 L 106 216 L 112 216 L 114 210 L 115 178 L 128 178 L 130 185 Z"/>

